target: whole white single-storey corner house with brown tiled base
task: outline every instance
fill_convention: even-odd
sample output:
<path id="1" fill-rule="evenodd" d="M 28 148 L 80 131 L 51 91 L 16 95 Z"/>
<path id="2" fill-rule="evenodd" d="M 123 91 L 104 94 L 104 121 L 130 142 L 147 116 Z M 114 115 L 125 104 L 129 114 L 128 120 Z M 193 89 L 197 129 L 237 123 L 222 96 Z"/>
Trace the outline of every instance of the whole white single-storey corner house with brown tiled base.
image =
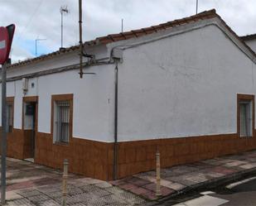
<path id="1" fill-rule="evenodd" d="M 252 49 L 210 10 L 85 42 L 83 79 L 78 46 L 10 65 L 7 154 L 112 180 L 255 149 Z"/>

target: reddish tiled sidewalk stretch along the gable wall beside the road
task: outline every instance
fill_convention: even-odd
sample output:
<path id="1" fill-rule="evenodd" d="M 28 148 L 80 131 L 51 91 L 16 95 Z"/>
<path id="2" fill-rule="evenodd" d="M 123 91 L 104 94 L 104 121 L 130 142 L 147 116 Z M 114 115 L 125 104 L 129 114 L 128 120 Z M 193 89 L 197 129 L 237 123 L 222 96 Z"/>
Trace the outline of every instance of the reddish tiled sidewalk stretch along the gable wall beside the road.
<path id="1" fill-rule="evenodd" d="M 202 160 L 161 170 L 162 198 L 174 197 L 214 184 L 239 179 L 256 171 L 256 151 Z M 149 171 L 110 182 L 145 199 L 156 199 L 156 172 Z"/>

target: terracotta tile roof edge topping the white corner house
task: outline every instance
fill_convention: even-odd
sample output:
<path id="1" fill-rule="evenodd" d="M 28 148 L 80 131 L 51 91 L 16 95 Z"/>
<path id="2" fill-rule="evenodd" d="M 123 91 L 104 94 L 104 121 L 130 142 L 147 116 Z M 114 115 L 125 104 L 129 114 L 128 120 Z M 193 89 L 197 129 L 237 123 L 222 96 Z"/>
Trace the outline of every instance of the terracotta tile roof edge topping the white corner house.
<path id="1" fill-rule="evenodd" d="M 84 45 L 85 46 L 96 46 L 96 45 L 102 45 L 102 44 L 103 45 L 104 44 L 109 44 L 109 43 L 116 42 L 116 41 L 128 40 L 128 39 L 136 38 L 136 37 L 139 37 L 139 36 L 146 36 L 146 35 L 152 34 L 154 32 L 163 31 L 163 30 L 166 30 L 166 29 L 169 29 L 169 28 L 172 28 L 172 27 L 189 24 L 191 22 L 198 22 L 198 21 L 201 21 L 201 20 L 210 19 L 210 18 L 214 18 L 214 17 L 220 18 L 220 20 L 229 29 L 229 31 L 231 31 L 234 34 L 234 36 L 236 36 L 239 39 L 239 41 L 241 41 L 244 44 L 244 46 L 248 47 L 248 49 L 251 50 L 249 48 L 249 46 L 247 46 L 244 43 L 244 41 L 241 38 L 239 38 L 239 36 L 237 36 L 229 26 L 226 25 L 226 23 L 221 19 L 221 17 L 215 12 L 215 9 L 211 9 L 211 10 L 205 11 L 205 12 L 200 12 L 196 15 L 191 16 L 191 17 L 185 17 L 185 18 L 174 20 L 174 21 L 171 21 L 171 22 L 162 23 L 162 24 L 159 24 L 159 25 L 156 25 L 156 26 L 150 26 L 150 27 L 146 27 L 146 28 L 142 28 L 142 29 L 138 29 L 138 30 L 132 30 L 132 31 L 125 31 L 125 32 L 121 32 L 121 33 L 118 33 L 118 34 L 110 34 L 108 36 L 101 36 L 101 37 L 96 38 L 93 41 L 85 41 Z M 75 51 L 75 50 L 79 50 L 79 46 L 71 46 L 69 48 L 65 48 L 65 49 L 62 49 L 62 50 L 57 50 L 57 51 L 52 52 L 48 55 L 41 55 L 41 56 L 36 57 L 34 59 L 31 59 L 31 60 L 24 60 L 22 62 L 10 65 L 9 67 L 17 67 L 19 65 L 28 65 L 32 62 L 37 62 L 37 61 L 41 61 L 41 60 L 50 59 L 50 58 L 52 58 L 56 55 L 69 53 L 69 52 L 72 52 L 72 51 Z M 254 53 L 253 50 L 251 50 L 251 52 Z M 255 55 L 255 53 L 254 53 L 254 55 Z"/>

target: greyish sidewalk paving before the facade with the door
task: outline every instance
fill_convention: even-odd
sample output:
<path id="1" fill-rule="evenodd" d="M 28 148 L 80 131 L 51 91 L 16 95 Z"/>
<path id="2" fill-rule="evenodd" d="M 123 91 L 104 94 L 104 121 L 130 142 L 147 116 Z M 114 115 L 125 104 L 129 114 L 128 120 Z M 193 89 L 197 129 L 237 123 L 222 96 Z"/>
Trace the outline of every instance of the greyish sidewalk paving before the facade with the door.
<path id="1" fill-rule="evenodd" d="M 61 205 L 62 173 L 7 158 L 7 205 Z M 67 205 L 144 205 L 146 200 L 108 182 L 69 174 Z"/>

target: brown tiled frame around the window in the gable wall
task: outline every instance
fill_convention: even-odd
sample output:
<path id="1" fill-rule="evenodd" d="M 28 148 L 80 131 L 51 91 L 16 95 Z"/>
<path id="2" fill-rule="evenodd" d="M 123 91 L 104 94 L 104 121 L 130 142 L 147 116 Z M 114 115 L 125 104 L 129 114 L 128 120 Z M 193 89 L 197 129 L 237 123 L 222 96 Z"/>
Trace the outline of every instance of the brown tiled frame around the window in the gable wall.
<path id="1" fill-rule="evenodd" d="M 240 131 L 240 104 L 241 103 L 251 103 L 251 113 L 252 113 L 252 136 L 249 137 L 254 137 L 254 129 L 255 129 L 255 109 L 254 109 L 254 95 L 253 94 L 242 94 L 238 93 L 237 94 L 237 135 L 239 138 L 249 138 L 249 137 L 244 137 L 241 136 L 241 131 Z"/>

